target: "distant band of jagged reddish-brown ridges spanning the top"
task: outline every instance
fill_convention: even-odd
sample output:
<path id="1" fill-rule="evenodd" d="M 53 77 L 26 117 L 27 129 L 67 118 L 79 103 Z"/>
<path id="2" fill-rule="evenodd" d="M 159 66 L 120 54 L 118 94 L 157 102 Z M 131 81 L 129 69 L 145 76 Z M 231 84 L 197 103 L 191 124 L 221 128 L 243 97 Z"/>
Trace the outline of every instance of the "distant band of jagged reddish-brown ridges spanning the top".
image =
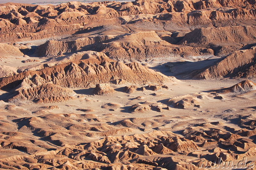
<path id="1" fill-rule="evenodd" d="M 233 4 L 219 0 L 211 2 L 200 0 L 174 0 L 171 2 L 137 0 L 125 3 L 107 1 L 90 4 L 70 2 L 56 6 L 9 3 L 0 6 L 0 26 L 2 28 L 0 41 L 17 38 L 43 39 L 72 34 L 78 30 L 86 29 L 84 25 L 88 25 L 87 27 L 90 25 L 101 26 L 104 21 L 113 25 L 120 25 L 154 19 L 156 21 L 170 20 L 172 23 L 192 26 L 199 24 L 220 26 L 230 24 L 230 22 L 234 22 L 234 19 L 253 20 L 252 18 L 255 17 L 254 4 L 255 2 L 249 3 L 246 0 Z M 229 10 L 228 7 L 235 10 Z M 207 11 L 205 9 L 213 10 Z M 148 17 L 133 18 L 132 16 L 141 14 L 148 14 Z M 98 22 L 94 22 L 95 20 Z M 22 34 L 23 32 L 25 34 Z"/>

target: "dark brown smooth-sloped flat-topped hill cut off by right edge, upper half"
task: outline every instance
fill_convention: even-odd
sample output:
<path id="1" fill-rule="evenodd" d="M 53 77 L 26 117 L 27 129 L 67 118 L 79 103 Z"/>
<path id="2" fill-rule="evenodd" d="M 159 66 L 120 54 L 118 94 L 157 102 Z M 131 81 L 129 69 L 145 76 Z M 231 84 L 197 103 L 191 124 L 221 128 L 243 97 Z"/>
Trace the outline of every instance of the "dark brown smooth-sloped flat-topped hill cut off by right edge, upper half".
<path id="1" fill-rule="evenodd" d="M 217 56 L 226 56 L 244 45 L 255 42 L 255 26 L 196 28 L 179 42 L 191 47 L 211 48 Z M 235 42 L 235 43 L 234 43 Z"/>

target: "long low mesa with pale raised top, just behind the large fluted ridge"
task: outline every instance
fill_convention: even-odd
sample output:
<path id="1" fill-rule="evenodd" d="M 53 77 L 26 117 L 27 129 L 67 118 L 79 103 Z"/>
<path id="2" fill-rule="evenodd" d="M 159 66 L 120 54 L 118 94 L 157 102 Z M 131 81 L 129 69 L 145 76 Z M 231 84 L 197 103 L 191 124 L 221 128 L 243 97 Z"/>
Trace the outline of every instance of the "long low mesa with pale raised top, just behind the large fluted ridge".
<path id="1" fill-rule="evenodd" d="M 71 39 L 71 38 L 70 38 Z M 74 39 L 74 38 L 73 38 Z M 54 46 L 55 48 L 52 48 Z M 146 60 L 149 57 L 171 55 L 213 55 L 213 50 L 172 45 L 162 40 L 155 31 L 126 33 L 124 35 L 100 35 L 78 38 L 72 41 L 47 41 L 39 46 L 36 54 L 53 57 L 60 54 L 70 54 L 77 51 L 94 50 L 106 53 L 113 59 Z"/>

